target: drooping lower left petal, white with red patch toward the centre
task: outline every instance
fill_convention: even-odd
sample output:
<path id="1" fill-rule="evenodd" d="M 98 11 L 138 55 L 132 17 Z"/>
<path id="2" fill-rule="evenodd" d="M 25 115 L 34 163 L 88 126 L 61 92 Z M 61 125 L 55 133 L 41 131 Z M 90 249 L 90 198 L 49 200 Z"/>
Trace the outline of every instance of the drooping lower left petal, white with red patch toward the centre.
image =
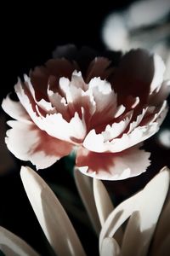
<path id="1" fill-rule="evenodd" d="M 30 160 L 37 169 L 47 168 L 71 152 L 70 143 L 48 136 L 33 123 L 8 121 L 8 125 L 12 127 L 5 138 L 8 149 L 20 160 Z"/>

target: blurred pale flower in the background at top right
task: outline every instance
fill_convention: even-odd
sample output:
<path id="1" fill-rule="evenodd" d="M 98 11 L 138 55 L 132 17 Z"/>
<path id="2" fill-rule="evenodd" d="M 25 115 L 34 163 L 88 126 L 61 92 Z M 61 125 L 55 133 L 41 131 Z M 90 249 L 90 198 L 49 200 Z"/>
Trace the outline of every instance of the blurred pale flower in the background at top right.
<path id="1" fill-rule="evenodd" d="M 170 2 L 135 1 L 127 9 L 108 15 L 102 38 L 108 49 L 149 49 L 162 56 L 170 73 Z"/>

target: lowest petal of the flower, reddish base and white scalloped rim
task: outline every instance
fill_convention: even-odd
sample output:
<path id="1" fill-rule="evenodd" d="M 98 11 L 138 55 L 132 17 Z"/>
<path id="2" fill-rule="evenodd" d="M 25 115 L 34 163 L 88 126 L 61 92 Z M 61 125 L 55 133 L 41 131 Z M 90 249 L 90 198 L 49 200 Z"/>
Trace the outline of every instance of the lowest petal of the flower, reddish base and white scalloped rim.
<path id="1" fill-rule="evenodd" d="M 138 176 L 150 166 L 150 153 L 139 149 L 141 144 L 118 154 L 94 153 L 86 148 L 77 151 L 77 167 L 90 176 L 104 180 L 120 180 Z"/>

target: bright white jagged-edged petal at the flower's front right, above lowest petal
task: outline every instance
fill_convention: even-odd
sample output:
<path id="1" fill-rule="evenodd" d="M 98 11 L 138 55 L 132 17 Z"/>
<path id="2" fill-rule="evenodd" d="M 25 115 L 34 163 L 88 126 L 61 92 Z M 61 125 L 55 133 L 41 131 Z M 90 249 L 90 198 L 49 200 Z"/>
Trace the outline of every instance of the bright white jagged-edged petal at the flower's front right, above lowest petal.
<path id="1" fill-rule="evenodd" d="M 105 132 L 97 134 L 95 130 L 89 131 L 83 142 L 83 146 L 94 152 L 116 153 L 143 142 L 159 130 L 159 127 L 167 114 L 167 102 L 165 101 L 162 104 L 158 113 L 151 115 L 150 122 L 145 120 L 146 123 L 142 125 L 141 120 L 144 113 L 145 110 L 139 115 L 139 118 L 137 118 L 136 121 L 129 125 L 129 131 L 123 133 L 121 137 L 113 138 L 111 141 L 105 141 Z"/>

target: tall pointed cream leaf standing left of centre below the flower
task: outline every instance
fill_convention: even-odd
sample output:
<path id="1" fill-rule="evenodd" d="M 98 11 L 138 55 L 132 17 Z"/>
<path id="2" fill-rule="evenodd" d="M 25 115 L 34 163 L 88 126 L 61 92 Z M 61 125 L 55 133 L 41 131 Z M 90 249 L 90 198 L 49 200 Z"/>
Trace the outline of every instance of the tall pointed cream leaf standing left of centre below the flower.
<path id="1" fill-rule="evenodd" d="M 85 256 L 76 231 L 47 183 L 29 167 L 22 166 L 20 176 L 31 207 L 54 252 L 58 255 Z"/>

